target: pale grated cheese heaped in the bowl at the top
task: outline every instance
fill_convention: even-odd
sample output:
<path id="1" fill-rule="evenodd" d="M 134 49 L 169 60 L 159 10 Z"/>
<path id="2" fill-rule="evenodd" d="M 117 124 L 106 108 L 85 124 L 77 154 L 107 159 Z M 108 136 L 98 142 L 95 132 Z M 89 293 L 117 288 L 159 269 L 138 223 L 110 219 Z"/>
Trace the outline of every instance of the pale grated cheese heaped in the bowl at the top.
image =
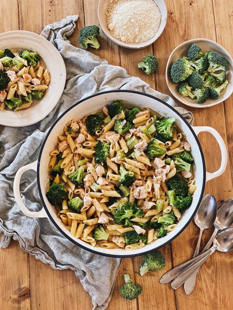
<path id="1" fill-rule="evenodd" d="M 106 15 L 112 36 L 126 43 L 148 41 L 161 23 L 161 12 L 154 0 L 116 0 Z"/>

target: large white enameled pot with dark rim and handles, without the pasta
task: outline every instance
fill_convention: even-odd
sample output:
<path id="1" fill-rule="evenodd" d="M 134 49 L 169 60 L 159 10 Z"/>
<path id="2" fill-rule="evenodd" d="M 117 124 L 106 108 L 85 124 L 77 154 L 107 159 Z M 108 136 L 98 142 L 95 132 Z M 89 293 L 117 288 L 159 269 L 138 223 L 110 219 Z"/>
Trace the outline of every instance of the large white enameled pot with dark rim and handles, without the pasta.
<path id="1" fill-rule="evenodd" d="M 55 208 L 48 202 L 48 199 L 45 196 L 46 193 L 46 183 L 48 182 L 48 163 L 50 160 L 50 152 L 57 147 L 57 135 L 63 133 L 63 128 L 66 122 L 72 118 L 80 119 L 86 114 L 99 112 L 102 110 L 103 106 L 110 104 L 114 100 L 123 100 L 126 108 L 138 106 L 139 108 L 148 107 L 152 110 L 158 112 L 160 115 L 174 117 L 176 119 L 177 125 L 180 127 L 181 131 L 185 133 L 187 141 L 192 146 L 192 155 L 194 157 L 194 175 L 196 179 L 197 188 L 194 192 L 193 202 L 189 209 L 185 210 L 180 219 L 178 226 L 175 230 L 169 232 L 167 236 L 156 240 L 152 244 L 144 246 L 144 248 L 138 250 L 124 250 L 124 249 L 105 249 L 101 247 L 93 247 L 90 244 L 73 237 L 70 231 L 62 224 L 60 219 L 57 217 Z M 197 138 L 197 135 L 201 131 L 210 132 L 217 140 L 217 143 L 221 149 L 222 162 L 220 168 L 213 172 L 209 173 L 205 169 L 205 161 L 203 157 L 203 152 Z M 171 106 L 162 100 L 155 98 L 151 95 L 146 95 L 144 93 L 136 91 L 108 91 L 102 92 L 96 95 L 87 97 L 80 102 L 74 104 L 68 108 L 51 126 L 48 134 L 46 135 L 40 152 L 38 160 L 32 162 L 29 165 L 23 166 L 20 168 L 14 180 L 14 195 L 16 202 L 21 209 L 21 211 L 29 217 L 48 217 L 56 228 L 70 241 L 75 243 L 77 246 L 80 246 L 88 251 L 94 252 L 99 255 L 112 256 L 112 257 L 130 257 L 143 255 L 152 250 L 159 249 L 162 246 L 165 246 L 171 242 L 174 238 L 179 236 L 179 234 L 188 226 L 190 221 L 193 219 L 194 214 L 196 213 L 199 204 L 203 197 L 203 192 L 205 188 L 205 183 L 217 176 L 221 175 L 226 169 L 227 163 L 227 151 L 226 146 L 222 137 L 219 133 L 208 126 L 199 126 L 192 127 L 185 121 L 185 119 Z M 27 170 L 35 170 L 37 173 L 37 184 L 39 189 L 40 199 L 43 205 L 43 208 L 39 212 L 31 212 L 24 205 L 21 194 L 20 194 L 20 179 L 21 175 Z"/>

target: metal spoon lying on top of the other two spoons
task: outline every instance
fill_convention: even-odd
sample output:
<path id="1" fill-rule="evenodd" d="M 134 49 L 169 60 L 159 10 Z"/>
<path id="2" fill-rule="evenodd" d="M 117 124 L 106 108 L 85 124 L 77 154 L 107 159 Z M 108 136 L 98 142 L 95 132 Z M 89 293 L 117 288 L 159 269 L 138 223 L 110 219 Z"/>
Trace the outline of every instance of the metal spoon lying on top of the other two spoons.
<path id="1" fill-rule="evenodd" d="M 190 259 L 189 268 L 187 268 L 185 272 L 182 272 L 171 282 L 171 287 L 174 290 L 178 289 L 216 250 L 221 252 L 233 250 L 233 226 L 224 228 L 217 232 L 216 237 L 213 240 L 213 246 L 204 253 Z"/>

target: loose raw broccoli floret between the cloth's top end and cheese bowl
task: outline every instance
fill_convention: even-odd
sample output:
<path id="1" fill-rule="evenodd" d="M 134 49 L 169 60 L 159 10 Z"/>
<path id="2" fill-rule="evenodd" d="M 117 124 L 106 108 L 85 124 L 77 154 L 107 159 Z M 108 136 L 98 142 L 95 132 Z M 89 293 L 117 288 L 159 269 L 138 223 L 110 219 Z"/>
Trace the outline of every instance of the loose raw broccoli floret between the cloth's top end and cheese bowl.
<path id="1" fill-rule="evenodd" d="M 100 47 L 96 38 L 97 34 L 99 34 L 99 27 L 96 25 L 83 27 L 79 33 L 79 43 L 82 48 L 86 50 L 88 48 L 87 45 L 90 44 L 91 47 L 97 50 Z"/>

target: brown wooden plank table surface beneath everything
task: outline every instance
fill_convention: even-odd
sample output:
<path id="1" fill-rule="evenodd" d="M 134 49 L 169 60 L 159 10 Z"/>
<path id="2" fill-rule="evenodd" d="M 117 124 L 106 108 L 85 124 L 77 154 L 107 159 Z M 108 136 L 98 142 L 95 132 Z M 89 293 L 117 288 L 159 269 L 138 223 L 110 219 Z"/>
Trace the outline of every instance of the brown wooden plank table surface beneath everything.
<path id="1" fill-rule="evenodd" d="M 160 1 L 160 0 L 158 0 Z M 208 38 L 221 44 L 233 55 L 233 6 L 231 0 L 166 0 L 167 25 L 158 40 L 142 50 L 118 47 L 101 31 L 101 47 L 89 51 L 114 65 L 120 65 L 130 75 L 138 76 L 150 86 L 171 95 L 165 82 L 165 67 L 171 51 L 180 43 L 192 38 Z M 79 30 L 85 25 L 98 24 L 98 0 L 11 0 L 0 1 L 0 32 L 29 30 L 41 33 L 47 24 L 67 15 L 80 16 L 71 43 L 79 46 Z M 155 54 L 159 68 L 155 74 L 144 75 L 137 63 L 145 54 Z M 77 98 L 78 99 L 78 98 Z M 208 182 L 205 193 L 215 195 L 218 203 L 233 197 L 232 146 L 233 146 L 233 96 L 212 108 L 194 109 L 194 125 L 212 126 L 224 139 L 230 152 L 225 173 Z M 207 170 L 213 172 L 220 166 L 221 155 L 215 139 L 208 133 L 199 135 L 205 155 Z M 232 308 L 232 259 L 233 253 L 215 253 L 199 273 L 195 289 L 189 296 L 183 287 L 174 291 L 170 285 L 160 285 L 164 272 L 192 257 L 199 229 L 192 222 L 171 244 L 162 248 L 166 267 L 156 273 L 139 275 L 141 257 L 124 259 L 112 299 L 107 310 L 228 310 Z M 204 231 L 201 247 L 210 237 L 212 228 Z M 71 270 L 54 270 L 24 252 L 18 242 L 11 241 L 7 249 L 0 250 L 2 310 L 91 310 L 91 298 Z M 143 286 L 138 299 L 128 301 L 119 295 L 123 273 L 130 273 L 136 283 Z"/>

